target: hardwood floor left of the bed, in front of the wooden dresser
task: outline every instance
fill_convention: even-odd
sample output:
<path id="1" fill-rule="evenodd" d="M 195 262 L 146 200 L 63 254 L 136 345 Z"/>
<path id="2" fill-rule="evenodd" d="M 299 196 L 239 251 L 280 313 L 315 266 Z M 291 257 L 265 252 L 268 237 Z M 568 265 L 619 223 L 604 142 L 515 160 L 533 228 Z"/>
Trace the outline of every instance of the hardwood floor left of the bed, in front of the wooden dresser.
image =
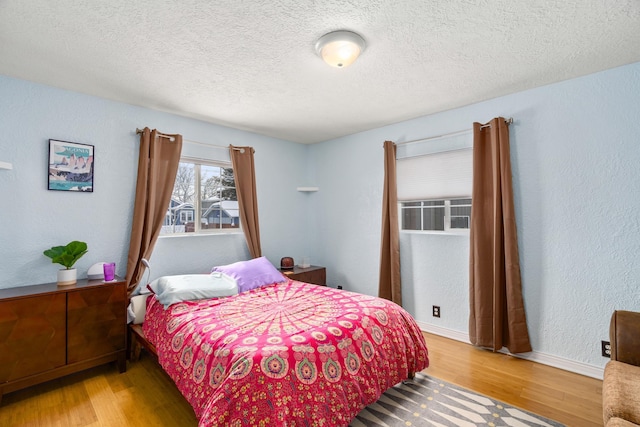
<path id="1" fill-rule="evenodd" d="M 152 356 L 143 352 L 127 371 L 93 368 L 3 396 L 2 427 L 188 427 L 191 406 Z"/>

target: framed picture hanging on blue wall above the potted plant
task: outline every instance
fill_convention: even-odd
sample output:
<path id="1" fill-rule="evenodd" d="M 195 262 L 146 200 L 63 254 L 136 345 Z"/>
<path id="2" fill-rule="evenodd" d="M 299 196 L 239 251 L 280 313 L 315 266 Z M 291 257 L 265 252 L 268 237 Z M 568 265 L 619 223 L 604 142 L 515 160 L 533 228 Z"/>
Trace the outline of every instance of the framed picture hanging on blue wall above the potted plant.
<path id="1" fill-rule="evenodd" d="M 49 140 L 49 190 L 93 192 L 93 145 Z"/>

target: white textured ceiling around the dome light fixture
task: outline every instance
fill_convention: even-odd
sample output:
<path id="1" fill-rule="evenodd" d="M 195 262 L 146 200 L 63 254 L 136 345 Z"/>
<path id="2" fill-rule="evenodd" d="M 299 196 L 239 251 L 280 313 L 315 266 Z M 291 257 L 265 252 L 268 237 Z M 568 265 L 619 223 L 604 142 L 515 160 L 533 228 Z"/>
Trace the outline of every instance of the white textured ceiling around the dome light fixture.
<path id="1" fill-rule="evenodd" d="M 0 0 L 0 74 L 301 143 L 638 61 L 638 0 Z"/>

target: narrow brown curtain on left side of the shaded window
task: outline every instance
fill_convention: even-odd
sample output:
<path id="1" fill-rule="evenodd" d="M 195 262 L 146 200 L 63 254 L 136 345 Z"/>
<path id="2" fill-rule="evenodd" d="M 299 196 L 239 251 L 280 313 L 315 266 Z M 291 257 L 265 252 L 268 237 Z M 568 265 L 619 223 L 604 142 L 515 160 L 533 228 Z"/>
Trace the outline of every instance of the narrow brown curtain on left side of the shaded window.
<path id="1" fill-rule="evenodd" d="M 400 231 L 396 186 L 396 144 L 384 142 L 384 189 L 382 194 L 382 242 L 380 245 L 378 296 L 402 305 L 400 281 Z"/>

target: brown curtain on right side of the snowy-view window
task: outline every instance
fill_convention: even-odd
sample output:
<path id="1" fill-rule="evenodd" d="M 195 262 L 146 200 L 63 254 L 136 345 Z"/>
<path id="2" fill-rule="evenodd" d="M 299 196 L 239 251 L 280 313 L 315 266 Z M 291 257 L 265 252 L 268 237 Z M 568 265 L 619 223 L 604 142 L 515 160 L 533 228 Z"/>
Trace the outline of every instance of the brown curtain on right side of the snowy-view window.
<path id="1" fill-rule="evenodd" d="M 236 181 L 240 223 L 252 258 L 262 256 L 260 225 L 258 223 L 258 193 L 252 147 L 229 146 L 233 176 Z"/>

